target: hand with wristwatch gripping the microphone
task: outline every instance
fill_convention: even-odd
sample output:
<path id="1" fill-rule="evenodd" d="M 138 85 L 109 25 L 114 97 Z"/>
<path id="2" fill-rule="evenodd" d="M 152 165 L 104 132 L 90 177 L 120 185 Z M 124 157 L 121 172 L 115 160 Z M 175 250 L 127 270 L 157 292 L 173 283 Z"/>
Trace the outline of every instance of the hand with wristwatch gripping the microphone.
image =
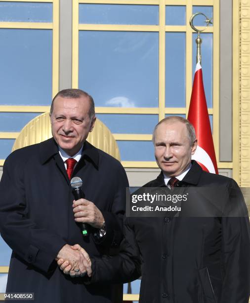
<path id="1" fill-rule="evenodd" d="M 93 202 L 86 199 L 73 201 L 73 212 L 76 222 L 87 223 L 94 228 L 102 228 L 103 215 Z"/>

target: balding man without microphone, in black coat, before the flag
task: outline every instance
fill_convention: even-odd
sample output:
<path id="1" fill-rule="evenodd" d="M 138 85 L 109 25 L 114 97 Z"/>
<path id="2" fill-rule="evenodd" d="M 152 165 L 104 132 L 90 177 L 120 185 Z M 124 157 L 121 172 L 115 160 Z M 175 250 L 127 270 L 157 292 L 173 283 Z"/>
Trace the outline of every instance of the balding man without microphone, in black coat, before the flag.
<path id="1" fill-rule="evenodd" d="M 249 217 L 238 185 L 231 178 L 203 171 L 191 160 L 197 139 L 194 127 L 184 118 L 160 121 L 153 143 L 161 173 L 144 188 L 169 194 L 176 193 L 176 188 L 191 192 L 200 187 L 208 193 L 219 188 L 228 193 L 219 202 L 239 203 L 234 206 L 241 211 L 235 217 L 191 217 L 169 211 L 161 217 L 127 216 L 120 254 L 105 259 L 90 256 L 92 283 L 125 282 L 141 273 L 141 303 L 248 303 Z M 203 206 L 208 197 L 201 198 L 196 202 Z M 70 270 L 63 260 L 58 263 L 66 273 Z"/>

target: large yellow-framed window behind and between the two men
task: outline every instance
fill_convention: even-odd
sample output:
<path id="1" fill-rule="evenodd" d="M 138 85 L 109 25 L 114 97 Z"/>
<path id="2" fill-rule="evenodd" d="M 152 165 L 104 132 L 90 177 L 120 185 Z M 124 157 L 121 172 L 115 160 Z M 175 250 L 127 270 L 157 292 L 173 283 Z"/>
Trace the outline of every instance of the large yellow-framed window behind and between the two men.
<path id="1" fill-rule="evenodd" d="M 154 125 L 166 115 L 187 116 L 197 37 L 187 12 L 202 12 L 212 18 L 213 5 L 208 2 L 198 6 L 189 0 L 185 5 L 167 0 L 161 6 L 160 2 L 152 5 L 143 0 L 140 4 L 80 0 L 75 6 L 79 23 L 73 28 L 74 37 L 78 37 L 73 41 L 73 51 L 78 53 L 73 85 L 94 97 L 99 119 L 119 140 L 125 167 L 157 167 L 150 142 Z M 197 16 L 195 26 L 204 27 L 204 21 Z M 213 106 L 213 35 L 218 22 L 215 26 L 201 35 L 211 122 L 218 117 Z"/>

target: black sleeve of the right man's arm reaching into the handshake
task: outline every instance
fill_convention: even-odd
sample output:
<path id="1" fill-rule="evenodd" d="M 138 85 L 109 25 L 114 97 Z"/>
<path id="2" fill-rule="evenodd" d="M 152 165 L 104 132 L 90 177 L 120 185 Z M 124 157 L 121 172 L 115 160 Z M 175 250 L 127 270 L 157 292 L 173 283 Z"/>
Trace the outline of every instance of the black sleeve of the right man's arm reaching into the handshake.
<path id="1" fill-rule="evenodd" d="M 140 253 L 133 227 L 129 225 L 128 218 L 125 219 L 124 236 L 119 254 L 91 257 L 91 283 L 126 283 L 140 277 Z"/>

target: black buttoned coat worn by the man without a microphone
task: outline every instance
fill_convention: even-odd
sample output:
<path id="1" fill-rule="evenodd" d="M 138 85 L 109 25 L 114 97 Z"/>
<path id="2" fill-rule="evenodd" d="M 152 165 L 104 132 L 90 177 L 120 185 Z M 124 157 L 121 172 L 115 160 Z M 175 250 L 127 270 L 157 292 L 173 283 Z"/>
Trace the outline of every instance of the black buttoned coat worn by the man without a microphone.
<path id="1" fill-rule="evenodd" d="M 162 173 L 145 185 L 165 186 Z M 219 186 L 242 200 L 234 180 L 207 173 L 195 161 L 179 186 Z M 142 303 L 248 303 L 249 227 L 247 211 L 242 217 L 127 217 L 121 253 L 92 258 L 92 282 L 135 279 L 141 264 Z"/>

